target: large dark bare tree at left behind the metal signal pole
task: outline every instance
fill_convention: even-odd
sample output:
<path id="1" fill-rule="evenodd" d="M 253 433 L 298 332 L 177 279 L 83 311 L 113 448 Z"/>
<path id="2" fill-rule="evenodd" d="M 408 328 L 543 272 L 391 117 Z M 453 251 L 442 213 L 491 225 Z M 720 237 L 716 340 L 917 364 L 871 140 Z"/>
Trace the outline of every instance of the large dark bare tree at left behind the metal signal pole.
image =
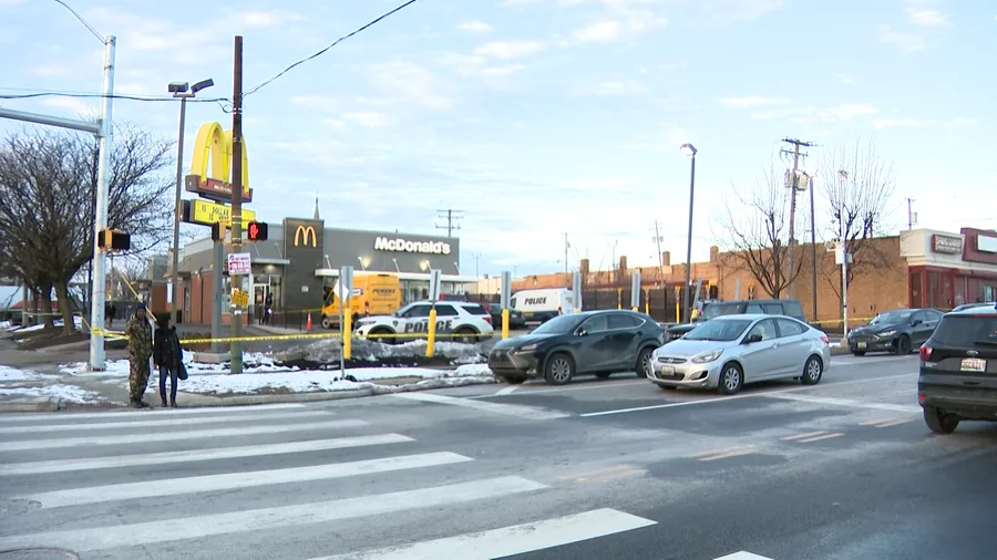
<path id="1" fill-rule="evenodd" d="M 111 153 L 107 225 L 132 235 L 133 251 L 168 236 L 172 144 L 130 125 L 116 128 Z M 48 129 L 16 132 L 0 145 L 2 257 L 51 308 L 54 288 L 72 332 L 69 282 L 93 258 L 97 178 L 93 138 Z M 51 325 L 50 318 L 47 324 Z"/>

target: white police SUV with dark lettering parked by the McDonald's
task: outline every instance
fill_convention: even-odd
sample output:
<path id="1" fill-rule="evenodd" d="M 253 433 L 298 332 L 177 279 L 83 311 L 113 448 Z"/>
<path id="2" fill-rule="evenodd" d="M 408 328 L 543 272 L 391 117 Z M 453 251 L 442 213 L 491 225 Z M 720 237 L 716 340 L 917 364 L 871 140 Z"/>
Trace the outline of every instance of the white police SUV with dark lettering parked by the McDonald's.
<path id="1" fill-rule="evenodd" d="M 393 315 L 374 315 L 357 322 L 354 334 L 392 344 L 429 336 L 429 314 L 433 303 L 417 301 Z M 472 344 L 492 336 L 492 315 L 470 301 L 436 302 L 436 340 Z M 398 336 L 395 336 L 395 334 Z"/>

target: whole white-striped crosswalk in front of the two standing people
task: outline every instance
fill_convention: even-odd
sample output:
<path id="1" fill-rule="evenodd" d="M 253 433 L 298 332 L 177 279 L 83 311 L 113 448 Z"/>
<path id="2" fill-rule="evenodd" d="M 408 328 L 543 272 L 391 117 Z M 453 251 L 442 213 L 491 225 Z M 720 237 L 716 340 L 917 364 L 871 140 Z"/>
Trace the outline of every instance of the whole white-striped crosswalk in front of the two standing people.
<path id="1" fill-rule="evenodd" d="M 0 500 L 21 508 L 0 526 L 0 550 L 256 558 L 260 542 L 298 546 L 305 535 L 311 553 L 295 558 L 485 560 L 656 525 L 569 504 L 538 516 L 528 504 L 556 484 L 475 473 L 476 452 L 420 449 L 398 425 L 306 406 L 182 411 L 0 418 Z M 418 538 L 328 532 L 423 511 L 472 525 L 420 527 Z"/>

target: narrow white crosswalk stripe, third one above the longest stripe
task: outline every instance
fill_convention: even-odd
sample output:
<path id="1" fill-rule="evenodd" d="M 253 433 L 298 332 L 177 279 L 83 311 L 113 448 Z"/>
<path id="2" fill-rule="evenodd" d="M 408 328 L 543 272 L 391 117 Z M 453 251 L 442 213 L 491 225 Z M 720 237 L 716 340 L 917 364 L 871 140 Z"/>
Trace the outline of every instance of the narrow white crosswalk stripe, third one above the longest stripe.
<path id="1" fill-rule="evenodd" d="M 119 436 L 65 437 L 59 439 L 30 439 L 21 442 L 0 442 L 0 453 L 21 452 L 25 449 L 55 449 L 60 447 L 92 447 L 95 445 L 150 444 L 160 442 L 182 442 L 208 437 L 239 437 L 261 434 L 287 434 L 290 432 L 309 432 L 325 429 L 345 429 L 367 426 L 358 419 L 338 419 L 329 422 L 308 422 L 301 424 L 277 424 L 265 426 L 243 426 L 234 428 L 193 429 L 189 432 L 145 433 Z"/>

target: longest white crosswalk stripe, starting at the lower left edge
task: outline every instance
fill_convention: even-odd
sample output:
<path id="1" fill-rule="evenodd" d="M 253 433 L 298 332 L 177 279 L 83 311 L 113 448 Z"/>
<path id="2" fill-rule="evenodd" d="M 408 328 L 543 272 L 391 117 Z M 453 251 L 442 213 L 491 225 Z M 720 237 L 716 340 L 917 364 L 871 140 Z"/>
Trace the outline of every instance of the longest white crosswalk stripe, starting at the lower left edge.
<path id="1" fill-rule="evenodd" d="M 163 481 L 161 486 L 168 486 Z M 150 484 L 150 483 L 146 483 Z M 317 526 L 333 521 L 359 521 L 376 516 L 429 509 L 486 498 L 501 498 L 536 491 L 546 485 L 508 476 L 487 480 L 419 488 L 359 498 L 317 501 L 227 514 L 186 516 L 130 525 L 109 525 L 88 529 L 69 529 L 0 537 L 0 550 L 25 548 L 64 548 L 91 552 L 122 547 L 141 547 L 179 540 L 205 539 L 220 535 L 254 533 L 285 527 Z"/>

